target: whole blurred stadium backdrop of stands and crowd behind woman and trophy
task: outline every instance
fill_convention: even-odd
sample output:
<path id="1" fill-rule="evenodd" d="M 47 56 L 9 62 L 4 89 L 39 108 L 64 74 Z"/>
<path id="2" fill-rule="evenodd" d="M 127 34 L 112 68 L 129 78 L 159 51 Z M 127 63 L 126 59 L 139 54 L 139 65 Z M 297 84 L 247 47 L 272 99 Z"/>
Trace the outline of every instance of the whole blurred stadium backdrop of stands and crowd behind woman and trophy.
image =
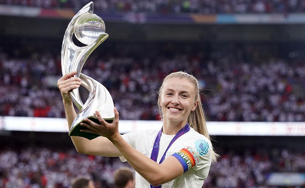
<path id="1" fill-rule="evenodd" d="M 109 38 L 82 72 L 109 90 L 122 133 L 156 123 L 159 83 L 186 70 L 221 155 L 204 188 L 305 187 L 305 1 L 93 2 Z M 61 47 L 87 3 L 0 0 L 0 187 L 65 188 L 83 175 L 108 188 L 128 166 L 78 154 L 68 136 Z"/>

